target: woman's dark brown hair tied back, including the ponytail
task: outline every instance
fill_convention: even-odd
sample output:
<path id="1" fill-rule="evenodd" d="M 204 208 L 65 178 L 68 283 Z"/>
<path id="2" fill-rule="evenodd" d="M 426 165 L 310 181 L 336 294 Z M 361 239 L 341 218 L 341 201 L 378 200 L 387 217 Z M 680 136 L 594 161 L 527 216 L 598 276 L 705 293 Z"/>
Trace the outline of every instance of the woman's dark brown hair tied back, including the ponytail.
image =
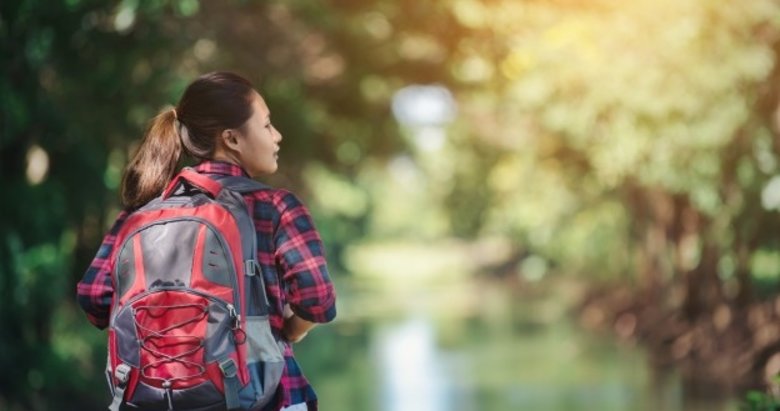
<path id="1" fill-rule="evenodd" d="M 229 72 L 208 73 L 190 83 L 175 108 L 154 118 L 128 163 L 122 176 L 124 206 L 138 208 L 160 195 L 182 151 L 211 158 L 222 131 L 241 127 L 252 116 L 253 92 L 247 79 Z"/>

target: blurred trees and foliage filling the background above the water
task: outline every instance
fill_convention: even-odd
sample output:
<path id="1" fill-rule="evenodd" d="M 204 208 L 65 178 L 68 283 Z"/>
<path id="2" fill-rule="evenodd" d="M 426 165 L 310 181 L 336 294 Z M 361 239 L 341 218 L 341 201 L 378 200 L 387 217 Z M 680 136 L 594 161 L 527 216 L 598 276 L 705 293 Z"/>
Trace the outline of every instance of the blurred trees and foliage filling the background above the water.
<path id="1" fill-rule="evenodd" d="M 630 279 L 695 316 L 780 277 L 778 56 L 770 0 L 0 2 L 0 409 L 103 401 L 74 285 L 146 122 L 205 71 L 266 97 L 269 181 L 337 271 L 359 242 L 501 237 L 533 278 Z M 431 148 L 390 105 L 433 83 L 459 115 Z"/>

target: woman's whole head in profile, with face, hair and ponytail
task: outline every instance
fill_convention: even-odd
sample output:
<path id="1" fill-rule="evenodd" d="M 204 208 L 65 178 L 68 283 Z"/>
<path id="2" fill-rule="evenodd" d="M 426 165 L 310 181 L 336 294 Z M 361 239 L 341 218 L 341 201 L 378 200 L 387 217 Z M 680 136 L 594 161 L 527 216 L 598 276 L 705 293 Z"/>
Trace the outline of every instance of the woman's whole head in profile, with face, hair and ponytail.
<path id="1" fill-rule="evenodd" d="M 199 160 L 234 162 L 251 176 L 276 171 L 281 135 L 269 115 L 262 97 L 245 78 L 229 72 L 199 77 L 175 108 L 152 121 L 125 170 L 124 205 L 139 207 L 159 195 L 173 178 L 182 151 Z"/>

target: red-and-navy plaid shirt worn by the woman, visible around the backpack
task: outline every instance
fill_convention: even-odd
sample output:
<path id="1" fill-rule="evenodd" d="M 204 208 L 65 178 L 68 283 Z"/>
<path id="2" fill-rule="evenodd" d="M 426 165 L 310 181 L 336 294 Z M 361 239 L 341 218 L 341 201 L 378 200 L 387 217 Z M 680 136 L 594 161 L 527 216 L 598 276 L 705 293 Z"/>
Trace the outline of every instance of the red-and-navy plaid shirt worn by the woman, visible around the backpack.
<path id="1" fill-rule="evenodd" d="M 205 161 L 195 169 L 205 174 L 247 176 L 239 166 L 217 161 Z M 258 262 L 264 273 L 278 273 L 275 278 L 264 277 L 271 305 L 271 327 L 281 334 L 285 304 L 304 320 L 331 321 L 336 316 L 336 294 L 328 276 L 322 241 L 306 207 L 292 193 L 280 189 L 261 190 L 244 198 L 254 214 Z M 110 256 L 116 235 L 128 215 L 129 211 L 119 214 L 78 284 L 79 304 L 89 321 L 100 329 L 108 326 L 114 293 Z M 286 367 L 276 401 L 265 410 L 279 410 L 303 402 L 309 410 L 316 410 L 317 397 L 295 361 L 289 343 L 285 343 L 284 356 Z"/>

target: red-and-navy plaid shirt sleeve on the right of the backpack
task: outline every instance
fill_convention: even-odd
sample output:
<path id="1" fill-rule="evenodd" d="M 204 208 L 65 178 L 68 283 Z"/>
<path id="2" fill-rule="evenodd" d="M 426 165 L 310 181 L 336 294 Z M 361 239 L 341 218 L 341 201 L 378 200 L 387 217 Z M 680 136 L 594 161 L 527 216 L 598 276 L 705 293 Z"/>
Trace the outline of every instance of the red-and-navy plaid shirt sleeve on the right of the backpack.
<path id="1" fill-rule="evenodd" d="M 292 311 L 304 320 L 325 323 L 336 317 L 336 292 L 320 235 L 306 207 L 292 193 L 281 199 L 274 235 L 275 258 Z"/>

